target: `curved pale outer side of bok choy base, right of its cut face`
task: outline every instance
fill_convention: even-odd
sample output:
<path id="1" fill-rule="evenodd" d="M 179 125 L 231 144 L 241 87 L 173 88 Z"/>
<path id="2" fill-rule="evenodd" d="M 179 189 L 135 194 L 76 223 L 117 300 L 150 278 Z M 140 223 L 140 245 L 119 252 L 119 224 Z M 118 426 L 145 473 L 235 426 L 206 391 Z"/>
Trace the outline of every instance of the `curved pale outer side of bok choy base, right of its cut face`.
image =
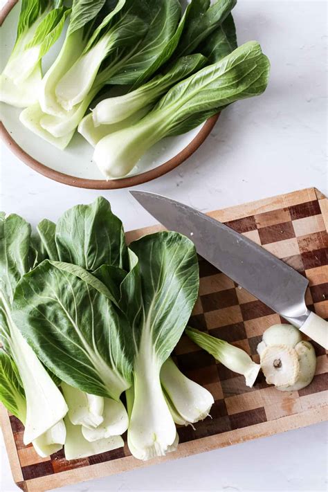
<path id="1" fill-rule="evenodd" d="M 316 352 L 309 342 L 303 340 L 295 347 L 295 352 L 298 354 L 298 363 L 300 364 L 300 374 L 298 380 L 293 385 L 280 386 L 277 390 L 280 391 L 298 391 L 309 385 L 316 372 Z"/>

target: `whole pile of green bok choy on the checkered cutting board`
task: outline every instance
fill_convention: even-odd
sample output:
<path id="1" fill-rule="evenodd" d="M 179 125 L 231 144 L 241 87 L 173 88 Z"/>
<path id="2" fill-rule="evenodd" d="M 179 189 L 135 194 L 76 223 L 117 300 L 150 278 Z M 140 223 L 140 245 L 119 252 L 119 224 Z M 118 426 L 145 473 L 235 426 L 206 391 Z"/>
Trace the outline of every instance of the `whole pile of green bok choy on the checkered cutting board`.
<path id="1" fill-rule="evenodd" d="M 77 459 L 123 446 L 127 431 L 145 460 L 176 448 L 176 425 L 210 415 L 212 394 L 172 358 L 199 292 L 190 239 L 165 231 L 127 246 L 100 197 L 36 231 L 2 212 L 0 246 L 0 401 L 25 444 Z M 219 360 L 250 367 L 253 384 L 245 352 L 221 341 Z"/>

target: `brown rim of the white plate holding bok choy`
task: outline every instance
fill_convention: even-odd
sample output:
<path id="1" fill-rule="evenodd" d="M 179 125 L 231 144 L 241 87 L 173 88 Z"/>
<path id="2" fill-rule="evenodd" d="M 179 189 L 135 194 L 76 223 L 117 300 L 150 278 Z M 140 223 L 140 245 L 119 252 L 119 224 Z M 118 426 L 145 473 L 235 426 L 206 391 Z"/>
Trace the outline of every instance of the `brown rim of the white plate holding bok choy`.
<path id="1" fill-rule="evenodd" d="M 6 19 L 10 10 L 12 10 L 17 1 L 18 0 L 8 0 L 3 6 L 0 11 L 0 26 L 3 24 L 3 21 Z M 137 174 L 136 176 L 127 176 L 127 178 L 122 179 L 110 179 L 109 181 L 104 179 L 78 178 L 76 176 L 71 176 L 70 174 L 55 171 L 51 169 L 51 167 L 40 163 L 25 152 L 24 149 L 19 147 L 12 136 L 10 136 L 2 122 L 0 122 L 0 135 L 12 153 L 15 154 L 21 161 L 33 170 L 39 172 L 39 174 L 43 174 L 43 176 L 53 179 L 53 181 L 64 183 L 64 185 L 75 186 L 77 188 L 89 188 L 91 190 L 117 190 L 119 188 L 129 188 L 131 186 L 147 183 L 147 181 L 152 181 L 153 179 L 159 178 L 160 176 L 163 176 L 163 174 L 172 171 L 175 167 L 179 166 L 192 154 L 194 154 L 194 152 L 196 152 L 196 150 L 201 146 L 212 131 L 218 118 L 219 114 L 209 118 L 200 129 L 197 136 L 195 136 L 193 140 L 183 150 L 181 150 L 181 152 L 179 152 L 179 154 L 176 154 L 176 156 L 172 157 L 169 161 L 166 161 L 155 169 Z"/>

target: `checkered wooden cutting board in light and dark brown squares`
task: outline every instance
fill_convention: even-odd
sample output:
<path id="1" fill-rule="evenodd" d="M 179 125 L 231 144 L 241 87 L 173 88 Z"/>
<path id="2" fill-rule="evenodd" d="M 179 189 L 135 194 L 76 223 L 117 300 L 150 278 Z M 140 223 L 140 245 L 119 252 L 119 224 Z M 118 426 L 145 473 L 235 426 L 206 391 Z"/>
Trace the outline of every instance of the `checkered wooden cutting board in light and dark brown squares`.
<path id="1" fill-rule="evenodd" d="M 271 251 L 309 279 L 307 305 L 328 318 L 328 200 L 314 188 L 283 194 L 242 206 L 211 212 Z M 160 227 L 127 234 L 136 239 Z M 250 354 L 258 361 L 257 343 L 263 331 L 282 321 L 253 295 L 241 289 L 212 265 L 199 260 L 201 284 L 190 325 L 208 329 Z M 180 444 L 175 453 L 140 462 L 124 448 L 67 462 L 60 451 L 39 458 L 32 446 L 24 446 L 21 423 L 1 408 L 1 423 L 12 475 L 24 491 L 55 489 L 75 482 L 158 464 L 169 459 L 230 446 L 256 437 L 309 426 L 327 419 L 327 355 L 316 344 L 318 363 L 311 385 L 298 392 L 279 392 L 259 376 L 254 388 L 244 378 L 217 364 L 212 356 L 183 336 L 175 349 L 180 369 L 212 392 L 212 419 L 179 428 Z M 147 407 L 145 407 L 147 412 Z"/>

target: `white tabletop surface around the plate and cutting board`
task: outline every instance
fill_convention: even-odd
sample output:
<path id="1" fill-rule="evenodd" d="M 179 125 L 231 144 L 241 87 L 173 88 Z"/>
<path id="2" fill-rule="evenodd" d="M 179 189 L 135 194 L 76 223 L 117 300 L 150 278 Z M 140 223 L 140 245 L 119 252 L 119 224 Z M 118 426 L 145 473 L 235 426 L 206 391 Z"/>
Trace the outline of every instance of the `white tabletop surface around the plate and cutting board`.
<path id="1" fill-rule="evenodd" d="M 234 12 L 239 44 L 257 39 L 271 60 L 266 93 L 226 109 L 188 162 L 139 188 L 201 210 L 311 186 L 327 194 L 327 3 L 239 0 Z M 55 221 L 67 208 L 89 203 L 98 194 L 39 176 L 1 147 L 2 210 L 17 212 L 35 225 L 44 217 Z M 127 190 L 102 194 L 126 230 L 154 223 Z M 325 491 L 326 432 L 320 423 L 62 490 Z M 0 449 L 0 490 L 16 491 L 2 441 Z"/>

